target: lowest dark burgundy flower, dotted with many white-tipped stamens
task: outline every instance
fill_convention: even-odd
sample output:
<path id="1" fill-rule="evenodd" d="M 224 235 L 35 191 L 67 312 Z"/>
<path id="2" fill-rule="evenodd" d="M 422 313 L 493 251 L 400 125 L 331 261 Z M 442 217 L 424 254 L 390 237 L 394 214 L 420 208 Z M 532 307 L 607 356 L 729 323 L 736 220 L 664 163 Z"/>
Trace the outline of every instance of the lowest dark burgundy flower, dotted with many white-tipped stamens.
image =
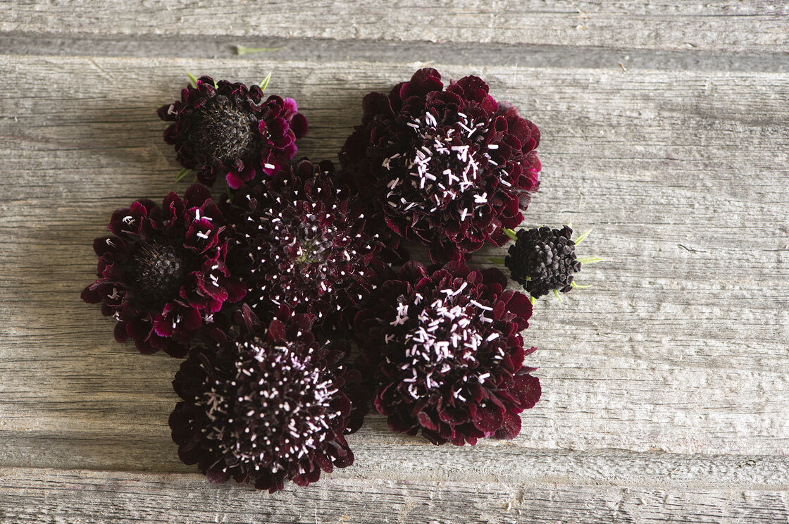
<path id="1" fill-rule="evenodd" d="M 263 335 L 194 348 L 175 376 L 170 415 L 178 456 L 208 480 L 233 477 L 276 492 L 353 464 L 343 436 L 360 379 L 345 350 L 320 345 L 306 316 L 273 320 Z"/>

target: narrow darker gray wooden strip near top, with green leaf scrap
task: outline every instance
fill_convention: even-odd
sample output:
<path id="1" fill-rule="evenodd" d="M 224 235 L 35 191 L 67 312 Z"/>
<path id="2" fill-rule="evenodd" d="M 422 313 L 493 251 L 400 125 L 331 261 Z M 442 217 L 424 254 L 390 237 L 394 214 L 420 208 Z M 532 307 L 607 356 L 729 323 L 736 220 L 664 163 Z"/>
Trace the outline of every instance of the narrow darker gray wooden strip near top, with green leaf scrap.
<path id="1" fill-rule="evenodd" d="M 690 69 L 701 71 L 753 71 L 789 73 L 785 51 L 656 50 L 630 47 L 527 45 L 522 43 L 415 42 L 394 40 L 334 40 L 319 38 L 195 35 L 103 35 L 86 33 L 0 32 L 6 54 L 46 56 L 117 56 L 140 58 L 222 58 L 247 60 L 233 42 L 263 47 L 259 57 L 271 62 L 402 62 L 418 57 L 428 64 L 455 64 L 458 68 L 512 66 L 560 69 Z M 620 66 L 621 64 L 621 66 Z"/>

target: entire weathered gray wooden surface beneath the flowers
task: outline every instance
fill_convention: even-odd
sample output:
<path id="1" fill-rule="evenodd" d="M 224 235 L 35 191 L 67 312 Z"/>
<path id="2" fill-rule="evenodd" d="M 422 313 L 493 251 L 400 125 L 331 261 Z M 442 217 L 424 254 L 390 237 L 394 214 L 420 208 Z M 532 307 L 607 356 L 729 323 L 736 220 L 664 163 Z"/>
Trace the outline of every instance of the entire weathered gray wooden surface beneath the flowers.
<path id="1" fill-rule="evenodd" d="M 0 522 L 786 524 L 787 13 L 0 2 Z M 179 362 L 119 346 L 79 299 L 111 211 L 174 187 L 155 108 L 186 72 L 273 72 L 309 119 L 301 154 L 335 159 L 361 97 L 424 65 L 481 75 L 540 126 L 525 225 L 592 227 L 606 259 L 592 289 L 537 303 L 543 399 L 510 442 L 435 447 L 371 417 L 356 464 L 316 485 L 208 484 L 166 425 Z"/>

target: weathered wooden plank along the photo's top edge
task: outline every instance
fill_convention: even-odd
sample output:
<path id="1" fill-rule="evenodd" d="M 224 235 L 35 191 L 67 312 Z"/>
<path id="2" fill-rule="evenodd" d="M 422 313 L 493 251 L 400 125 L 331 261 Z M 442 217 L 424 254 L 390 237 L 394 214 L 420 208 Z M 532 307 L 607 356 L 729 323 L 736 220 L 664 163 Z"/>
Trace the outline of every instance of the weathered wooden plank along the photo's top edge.
<path id="1" fill-rule="evenodd" d="M 217 23 L 221 21 L 221 23 Z M 787 51 L 785 2 L 0 2 L 0 31 Z M 231 42 L 231 43 L 245 43 Z"/>

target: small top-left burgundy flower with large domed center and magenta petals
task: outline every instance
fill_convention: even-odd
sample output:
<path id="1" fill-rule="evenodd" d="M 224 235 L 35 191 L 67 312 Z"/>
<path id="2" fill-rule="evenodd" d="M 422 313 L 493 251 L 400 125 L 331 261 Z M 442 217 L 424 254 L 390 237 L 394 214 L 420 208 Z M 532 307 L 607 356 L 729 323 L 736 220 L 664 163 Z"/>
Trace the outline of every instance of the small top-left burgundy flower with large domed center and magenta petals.
<path id="1" fill-rule="evenodd" d="M 211 77 L 183 89 L 180 101 L 159 109 L 159 118 L 174 122 L 164 141 L 175 145 L 181 166 L 196 170 L 206 185 L 225 177 L 232 189 L 284 166 L 296 155 L 296 139 L 307 132 L 294 99 L 264 99 L 258 85 L 215 84 Z"/>

